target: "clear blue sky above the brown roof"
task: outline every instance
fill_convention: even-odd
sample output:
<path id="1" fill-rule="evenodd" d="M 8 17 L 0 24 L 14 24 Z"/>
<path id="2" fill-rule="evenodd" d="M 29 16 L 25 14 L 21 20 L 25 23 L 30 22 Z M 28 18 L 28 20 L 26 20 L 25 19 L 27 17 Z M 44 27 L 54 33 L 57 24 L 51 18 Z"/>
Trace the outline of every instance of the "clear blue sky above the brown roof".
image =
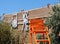
<path id="1" fill-rule="evenodd" d="M 16 13 L 20 10 L 31 10 L 58 3 L 58 0 L 0 0 L 0 16 L 5 13 Z"/>

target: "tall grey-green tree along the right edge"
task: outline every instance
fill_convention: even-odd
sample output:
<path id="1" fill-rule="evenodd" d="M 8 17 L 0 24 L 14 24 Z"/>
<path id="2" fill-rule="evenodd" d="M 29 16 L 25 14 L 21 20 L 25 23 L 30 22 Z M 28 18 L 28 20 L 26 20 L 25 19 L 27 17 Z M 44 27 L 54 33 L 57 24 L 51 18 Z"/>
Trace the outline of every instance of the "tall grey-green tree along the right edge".
<path id="1" fill-rule="evenodd" d="M 55 5 L 52 7 L 53 13 L 51 18 L 48 18 L 46 25 L 48 25 L 49 28 L 52 28 L 52 36 L 54 44 L 60 44 L 59 40 L 59 32 L 60 32 L 60 5 Z"/>

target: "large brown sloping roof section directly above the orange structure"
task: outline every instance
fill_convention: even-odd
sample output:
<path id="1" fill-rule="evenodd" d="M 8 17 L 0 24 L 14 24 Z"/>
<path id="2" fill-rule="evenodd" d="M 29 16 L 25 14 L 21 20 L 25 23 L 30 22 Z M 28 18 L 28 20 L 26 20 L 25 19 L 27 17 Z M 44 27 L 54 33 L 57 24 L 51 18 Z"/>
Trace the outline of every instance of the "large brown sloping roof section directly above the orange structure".
<path id="1" fill-rule="evenodd" d="M 42 18 L 42 17 L 49 17 L 50 16 L 50 9 L 47 7 L 41 8 L 41 9 L 36 9 L 36 10 L 31 10 L 29 11 L 29 19 L 34 19 L 34 18 Z"/>

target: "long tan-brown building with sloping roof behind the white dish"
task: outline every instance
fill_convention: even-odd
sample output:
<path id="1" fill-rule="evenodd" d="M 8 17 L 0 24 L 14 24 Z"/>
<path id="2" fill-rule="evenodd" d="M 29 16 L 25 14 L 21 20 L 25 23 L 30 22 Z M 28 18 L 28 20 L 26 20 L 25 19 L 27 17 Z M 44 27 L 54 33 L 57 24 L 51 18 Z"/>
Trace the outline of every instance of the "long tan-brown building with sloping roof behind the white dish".
<path id="1" fill-rule="evenodd" d="M 44 18 L 46 19 L 47 17 L 50 17 L 53 10 L 52 10 L 52 6 L 50 6 L 49 4 L 44 7 L 44 8 L 37 8 L 37 9 L 33 9 L 33 10 L 28 10 L 28 18 L 29 19 L 36 19 L 36 18 Z M 6 23 L 10 23 L 12 22 L 13 19 L 16 19 L 17 17 L 17 29 L 22 29 L 23 26 L 23 13 L 24 10 L 22 10 L 21 12 L 18 12 L 16 14 L 4 14 L 3 15 L 3 21 Z"/>

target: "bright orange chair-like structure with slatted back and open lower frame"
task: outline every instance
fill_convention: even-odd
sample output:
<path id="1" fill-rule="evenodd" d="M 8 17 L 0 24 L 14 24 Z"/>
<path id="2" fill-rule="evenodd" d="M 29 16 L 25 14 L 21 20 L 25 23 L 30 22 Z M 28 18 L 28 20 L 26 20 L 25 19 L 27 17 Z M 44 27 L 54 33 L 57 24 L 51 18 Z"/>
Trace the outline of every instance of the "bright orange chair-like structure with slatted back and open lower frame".
<path id="1" fill-rule="evenodd" d="M 50 44 L 48 27 L 44 26 L 44 19 L 30 19 L 29 27 L 30 44 L 41 44 L 41 42 Z M 42 39 L 37 39 L 37 34 L 42 34 Z"/>

